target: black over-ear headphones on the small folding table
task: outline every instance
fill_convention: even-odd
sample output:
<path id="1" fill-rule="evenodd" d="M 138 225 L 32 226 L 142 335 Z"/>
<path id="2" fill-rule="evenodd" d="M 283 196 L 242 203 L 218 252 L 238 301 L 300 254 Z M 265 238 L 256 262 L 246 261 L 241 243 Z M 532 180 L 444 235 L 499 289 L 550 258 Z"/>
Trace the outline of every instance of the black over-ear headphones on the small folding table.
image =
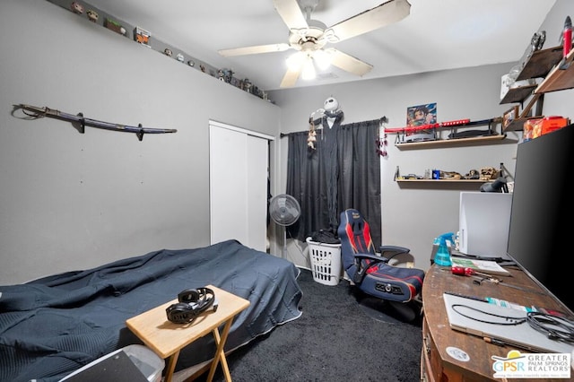
<path id="1" fill-rule="evenodd" d="M 187 289 L 178 293 L 178 303 L 171 304 L 165 309 L 168 319 L 175 324 L 188 324 L 196 319 L 199 314 L 211 308 L 217 310 L 217 304 L 213 305 L 215 293 L 210 288 Z"/>

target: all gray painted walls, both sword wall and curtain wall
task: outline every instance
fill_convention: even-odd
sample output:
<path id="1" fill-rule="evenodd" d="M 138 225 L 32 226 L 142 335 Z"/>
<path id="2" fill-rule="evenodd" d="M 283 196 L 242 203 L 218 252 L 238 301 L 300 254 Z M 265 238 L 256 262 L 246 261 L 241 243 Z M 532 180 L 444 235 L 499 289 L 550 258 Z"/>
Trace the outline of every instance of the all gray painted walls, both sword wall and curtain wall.
<path id="1" fill-rule="evenodd" d="M 547 47 L 557 44 L 573 13 L 568 3 L 559 0 L 543 25 Z M 500 76 L 515 64 L 274 91 L 275 106 L 45 0 L 0 3 L 0 48 L 3 284 L 209 244 L 210 118 L 276 136 L 271 169 L 278 194 L 286 169 L 280 129 L 307 129 L 309 113 L 327 97 L 339 100 L 344 123 L 387 116 L 388 127 L 404 126 L 406 108 L 427 102 L 438 103 L 440 121 L 496 117 L 509 109 L 499 105 Z M 547 94 L 544 113 L 571 117 L 572 98 L 572 91 Z M 19 103 L 178 133 L 143 142 L 91 127 L 80 135 L 66 122 L 14 117 Z M 383 239 L 411 247 L 415 265 L 426 268 L 432 238 L 457 230 L 462 189 L 401 188 L 393 181 L 396 166 L 402 173 L 466 172 L 504 162 L 513 172 L 520 134 L 500 144 L 410 151 L 397 150 L 394 137 L 381 159 Z M 296 264 L 309 266 L 304 246 L 289 251 Z"/>

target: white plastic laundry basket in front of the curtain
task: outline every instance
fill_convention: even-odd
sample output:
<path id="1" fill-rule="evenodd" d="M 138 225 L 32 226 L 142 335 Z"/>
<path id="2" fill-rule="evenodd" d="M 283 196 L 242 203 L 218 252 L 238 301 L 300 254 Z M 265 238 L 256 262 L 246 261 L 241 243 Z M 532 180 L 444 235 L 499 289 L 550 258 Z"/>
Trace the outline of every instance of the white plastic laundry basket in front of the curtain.
<path id="1" fill-rule="evenodd" d="M 326 244 L 307 238 L 313 280 L 325 285 L 337 285 L 343 273 L 341 244 Z"/>

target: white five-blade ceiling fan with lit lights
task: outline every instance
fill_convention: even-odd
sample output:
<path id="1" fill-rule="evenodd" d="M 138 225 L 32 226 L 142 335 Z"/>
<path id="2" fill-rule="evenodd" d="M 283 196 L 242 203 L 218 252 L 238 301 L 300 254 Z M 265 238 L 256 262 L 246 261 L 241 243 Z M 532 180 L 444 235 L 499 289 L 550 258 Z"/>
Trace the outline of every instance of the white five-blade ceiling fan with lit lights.
<path id="1" fill-rule="evenodd" d="M 280 85 L 282 88 L 293 86 L 301 74 L 303 77 L 309 72 L 314 74 L 314 61 L 321 68 L 335 65 L 346 72 L 362 76 L 370 72 L 372 65 L 335 48 L 326 48 L 326 44 L 351 39 L 403 20 L 411 10 L 407 0 L 388 0 L 327 28 L 323 22 L 311 19 L 311 12 L 317 7 L 318 1 L 299 0 L 298 3 L 298 0 L 274 0 L 275 10 L 289 28 L 288 43 L 222 49 L 218 51 L 219 54 L 245 56 L 297 50 L 287 60 L 287 72 Z"/>

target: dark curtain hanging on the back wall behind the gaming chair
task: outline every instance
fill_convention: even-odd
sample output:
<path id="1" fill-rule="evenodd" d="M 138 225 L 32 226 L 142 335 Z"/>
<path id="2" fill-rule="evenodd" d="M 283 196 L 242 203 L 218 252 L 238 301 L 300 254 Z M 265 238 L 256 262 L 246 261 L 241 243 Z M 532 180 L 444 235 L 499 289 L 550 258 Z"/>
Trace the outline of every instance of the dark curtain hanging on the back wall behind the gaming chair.
<path id="1" fill-rule="evenodd" d="M 300 203 L 300 219 L 287 228 L 293 239 L 304 241 L 318 230 L 336 232 L 340 213 L 359 210 L 371 228 L 376 247 L 381 244 L 380 120 L 326 124 L 317 130 L 315 149 L 307 144 L 308 132 L 291 133 L 287 155 L 287 194 Z"/>

